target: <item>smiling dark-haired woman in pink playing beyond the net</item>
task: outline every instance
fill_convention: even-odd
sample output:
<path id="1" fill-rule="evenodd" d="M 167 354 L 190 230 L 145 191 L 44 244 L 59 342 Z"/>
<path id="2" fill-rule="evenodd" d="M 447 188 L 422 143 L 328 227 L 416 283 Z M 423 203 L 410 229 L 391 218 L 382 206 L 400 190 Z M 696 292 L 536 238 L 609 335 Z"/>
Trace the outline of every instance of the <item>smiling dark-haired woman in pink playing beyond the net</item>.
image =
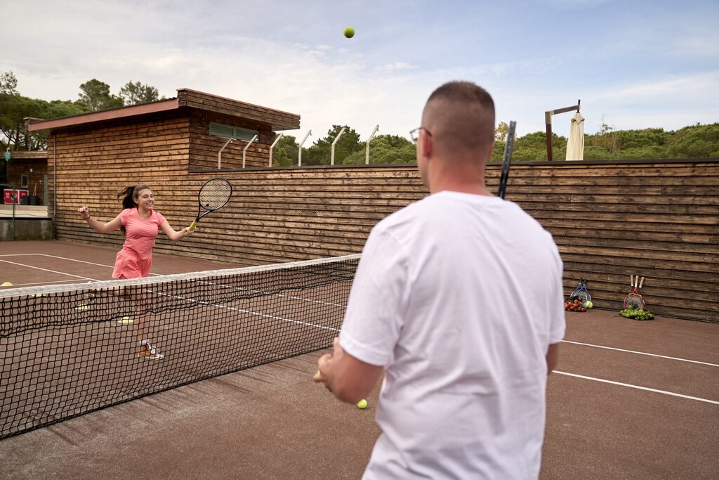
<path id="1" fill-rule="evenodd" d="M 152 247 L 155 246 L 155 237 L 162 230 L 170 240 L 182 240 L 190 235 L 189 227 L 175 231 L 173 227 L 162 217 L 162 214 L 155 212 L 155 198 L 150 187 L 145 185 L 128 186 L 118 194 L 122 197 L 123 210 L 109 222 L 102 223 L 94 219 L 88 207 L 78 209 L 80 216 L 86 220 L 94 230 L 100 233 L 114 232 L 118 228 L 125 235 L 125 243 L 122 250 L 115 258 L 115 268 L 112 272 L 114 279 L 137 279 L 145 277 L 150 273 L 152 265 Z M 135 296 L 138 304 L 142 304 L 142 296 Z M 139 308 L 142 310 L 142 308 Z M 164 355 L 157 351 L 152 345 L 148 336 L 149 328 L 145 315 L 140 315 L 135 321 L 132 317 L 123 317 L 118 323 L 123 325 L 135 323 L 138 330 L 139 347 L 137 356 L 152 360 L 159 360 Z"/>

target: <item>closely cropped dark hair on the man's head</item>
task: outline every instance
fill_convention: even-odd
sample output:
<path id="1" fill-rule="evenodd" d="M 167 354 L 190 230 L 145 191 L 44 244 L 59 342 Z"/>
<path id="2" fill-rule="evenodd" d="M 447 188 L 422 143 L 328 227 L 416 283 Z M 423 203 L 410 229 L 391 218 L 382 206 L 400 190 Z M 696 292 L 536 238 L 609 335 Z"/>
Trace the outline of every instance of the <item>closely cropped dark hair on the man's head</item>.
<path id="1" fill-rule="evenodd" d="M 433 137 L 449 149 L 491 148 L 494 143 L 494 101 L 475 83 L 444 83 L 429 96 L 425 115 L 423 122 L 431 124 Z"/>

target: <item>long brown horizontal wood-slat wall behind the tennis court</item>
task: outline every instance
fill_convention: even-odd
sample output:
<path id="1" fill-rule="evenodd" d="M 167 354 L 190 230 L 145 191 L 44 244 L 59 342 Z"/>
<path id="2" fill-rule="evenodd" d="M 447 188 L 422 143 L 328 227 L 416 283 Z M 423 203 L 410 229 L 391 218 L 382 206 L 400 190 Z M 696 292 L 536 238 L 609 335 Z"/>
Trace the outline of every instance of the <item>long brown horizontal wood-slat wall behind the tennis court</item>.
<path id="1" fill-rule="evenodd" d="M 160 234 L 155 251 L 228 267 L 305 260 L 361 251 L 380 219 L 426 195 L 415 166 L 188 172 L 189 119 L 124 128 L 105 140 L 65 133 L 55 135 L 56 147 L 50 141 L 59 240 L 120 248 L 119 232 L 94 232 L 76 210 L 88 204 L 94 217 L 109 220 L 120 209 L 116 192 L 139 181 L 179 229 L 196 215 L 201 184 L 223 176 L 235 189 L 230 204 L 187 240 Z M 492 191 L 499 169 L 487 168 Z M 719 159 L 515 163 L 507 192 L 554 235 L 565 294 L 585 277 L 596 307 L 619 310 L 629 276 L 638 274 L 655 314 L 719 321 Z"/>

